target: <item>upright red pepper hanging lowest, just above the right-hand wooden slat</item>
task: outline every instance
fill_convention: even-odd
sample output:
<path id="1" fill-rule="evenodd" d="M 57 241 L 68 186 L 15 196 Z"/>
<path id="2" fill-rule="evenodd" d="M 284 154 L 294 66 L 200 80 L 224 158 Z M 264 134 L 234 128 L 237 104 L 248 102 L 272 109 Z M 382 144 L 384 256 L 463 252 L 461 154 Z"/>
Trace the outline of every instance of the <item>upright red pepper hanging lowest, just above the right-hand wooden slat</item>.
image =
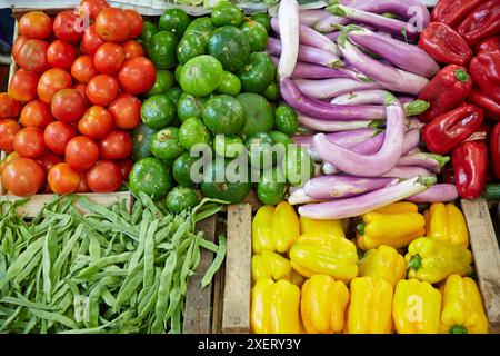
<path id="1" fill-rule="evenodd" d="M 460 144 L 451 156 L 454 182 L 460 197 L 476 199 L 484 190 L 488 175 L 488 148 L 484 142 Z"/>

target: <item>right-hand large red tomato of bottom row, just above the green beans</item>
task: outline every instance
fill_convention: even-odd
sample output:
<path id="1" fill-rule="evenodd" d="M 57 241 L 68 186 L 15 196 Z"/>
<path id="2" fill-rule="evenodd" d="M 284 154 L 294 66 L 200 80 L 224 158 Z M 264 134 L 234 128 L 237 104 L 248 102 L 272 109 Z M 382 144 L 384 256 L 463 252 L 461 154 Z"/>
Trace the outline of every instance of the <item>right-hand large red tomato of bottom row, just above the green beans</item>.
<path id="1" fill-rule="evenodd" d="M 116 191 L 122 182 L 120 167 L 111 160 L 101 160 L 87 172 L 87 184 L 93 192 Z"/>

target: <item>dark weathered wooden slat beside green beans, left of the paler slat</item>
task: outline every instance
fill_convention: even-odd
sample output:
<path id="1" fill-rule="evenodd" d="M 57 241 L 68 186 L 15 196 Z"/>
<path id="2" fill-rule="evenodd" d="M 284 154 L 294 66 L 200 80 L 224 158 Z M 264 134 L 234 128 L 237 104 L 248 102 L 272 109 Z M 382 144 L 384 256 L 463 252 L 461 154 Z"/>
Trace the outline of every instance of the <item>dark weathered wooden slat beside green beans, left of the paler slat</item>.
<path id="1" fill-rule="evenodd" d="M 197 224 L 197 229 L 204 233 L 204 239 L 216 240 L 216 216 L 211 216 Z M 211 286 L 201 289 L 201 279 L 213 261 L 213 253 L 201 249 L 200 265 L 196 274 L 189 278 L 184 308 L 184 334 L 210 334 L 211 333 Z"/>

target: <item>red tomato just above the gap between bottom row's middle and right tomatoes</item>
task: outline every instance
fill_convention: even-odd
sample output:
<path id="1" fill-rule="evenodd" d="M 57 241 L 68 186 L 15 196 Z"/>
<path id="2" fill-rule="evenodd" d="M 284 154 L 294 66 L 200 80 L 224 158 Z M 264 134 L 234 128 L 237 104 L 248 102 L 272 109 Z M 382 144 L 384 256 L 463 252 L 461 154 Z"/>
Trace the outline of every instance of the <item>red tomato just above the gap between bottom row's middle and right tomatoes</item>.
<path id="1" fill-rule="evenodd" d="M 89 169 L 99 158 L 99 147 L 91 138 L 77 136 L 66 145 L 64 158 L 73 168 Z"/>

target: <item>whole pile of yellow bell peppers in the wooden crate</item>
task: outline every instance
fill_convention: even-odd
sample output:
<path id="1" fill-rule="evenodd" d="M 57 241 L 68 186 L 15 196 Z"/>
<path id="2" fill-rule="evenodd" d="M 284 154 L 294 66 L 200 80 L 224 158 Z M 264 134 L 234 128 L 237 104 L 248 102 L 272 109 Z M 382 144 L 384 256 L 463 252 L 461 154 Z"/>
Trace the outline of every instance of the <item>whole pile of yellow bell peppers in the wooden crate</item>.
<path id="1" fill-rule="evenodd" d="M 396 202 L 348 221 L 287 201 L 252 221 L 253 333 L 488 333 L 461 211 Z"/>

